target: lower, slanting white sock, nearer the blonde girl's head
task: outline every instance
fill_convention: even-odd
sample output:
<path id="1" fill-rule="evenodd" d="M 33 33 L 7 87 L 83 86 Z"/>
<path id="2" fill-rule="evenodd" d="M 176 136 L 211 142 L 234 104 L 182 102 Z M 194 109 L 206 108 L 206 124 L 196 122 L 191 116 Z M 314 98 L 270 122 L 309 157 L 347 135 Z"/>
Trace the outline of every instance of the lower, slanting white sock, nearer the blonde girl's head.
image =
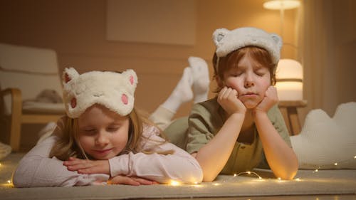
<path id="1" fill-rule="evenodd" d="M 182 78 L 179 80 L 171 95 L 169 95 L 169 98 L 163 102 L 162 107 L 174 113 L 177 112 L 179 106 L 182 105 L 182 103 L 192 100 L 192 84 L 192 69 L 189 67 L 184 68 Z"/>

